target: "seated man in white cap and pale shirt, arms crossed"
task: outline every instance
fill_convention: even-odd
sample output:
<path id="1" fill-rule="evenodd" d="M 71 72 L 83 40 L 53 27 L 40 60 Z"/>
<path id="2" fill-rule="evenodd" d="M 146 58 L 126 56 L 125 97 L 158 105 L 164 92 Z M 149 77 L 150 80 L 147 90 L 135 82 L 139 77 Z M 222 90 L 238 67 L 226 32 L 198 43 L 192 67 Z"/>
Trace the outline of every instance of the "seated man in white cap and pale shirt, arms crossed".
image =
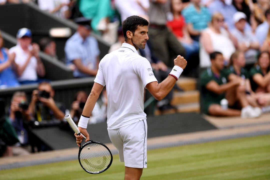
<path id="1" fill-rule="evenodd" d="M 259 50 L 259 41 L 250 30 L 245 30 L 247 16 L 243 12 L 234 14 L 235 29 L 232 30 L 232 35 L 238 41 L 238 49 L 245 52 L 247 63 L 255 63 Z"/>

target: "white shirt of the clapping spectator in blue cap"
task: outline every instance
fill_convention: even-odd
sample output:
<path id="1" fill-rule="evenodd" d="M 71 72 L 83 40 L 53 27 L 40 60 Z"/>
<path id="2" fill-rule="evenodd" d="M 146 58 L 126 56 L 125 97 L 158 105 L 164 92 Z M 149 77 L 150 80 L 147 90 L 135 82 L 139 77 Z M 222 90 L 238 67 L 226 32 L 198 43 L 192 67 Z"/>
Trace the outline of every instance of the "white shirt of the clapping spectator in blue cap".
<path id="1" fill-rule="evenodd" d="M 32 46 L 29 47 L 29 50 L 32 50 Z M 15 63 L 19 66 L 23 66 L 25 64 L 28 53 L 23 51 L 22 47 L 18 44 L 9 49 L 9 53 L 15 53 Z M 38 74 L 36 72 L 36 68 L 38 66 L 37 59 L 32 56 L 29 63 L 27 64 L 25 70 L 23 71 L 22 75 L 18 78 L 19 81 L 36 81 L 38 80 Z"/>

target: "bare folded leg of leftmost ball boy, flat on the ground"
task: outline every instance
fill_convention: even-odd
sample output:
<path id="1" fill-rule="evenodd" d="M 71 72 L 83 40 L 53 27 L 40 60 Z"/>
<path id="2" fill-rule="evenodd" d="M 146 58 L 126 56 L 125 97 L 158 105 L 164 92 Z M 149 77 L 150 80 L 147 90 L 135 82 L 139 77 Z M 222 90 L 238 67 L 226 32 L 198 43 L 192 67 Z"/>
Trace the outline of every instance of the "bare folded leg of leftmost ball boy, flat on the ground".
<path id="1" fill-rule="evenodd" d="M 211 104 L 208 108 L 208 113 L 212 116 L 241 116 L 241 111 L 228 108 L 222 109 L 219 104 Z"/>

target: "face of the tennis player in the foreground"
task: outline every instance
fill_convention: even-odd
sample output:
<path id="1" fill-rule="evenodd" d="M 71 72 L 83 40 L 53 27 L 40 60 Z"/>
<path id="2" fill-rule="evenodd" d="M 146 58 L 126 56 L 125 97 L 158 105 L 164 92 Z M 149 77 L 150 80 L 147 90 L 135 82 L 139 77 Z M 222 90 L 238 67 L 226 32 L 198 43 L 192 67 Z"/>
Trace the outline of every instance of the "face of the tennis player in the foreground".
<path id="1" fill-rule="evenodd" d="M 147 26 L 138 26 L 134 34 L 131 35 L 132 43 L 135 46 L 139 47 L 140 49 L 144 49 L 146 45 L 146 41 L 149 39 L 147 33 L 148 33 Z"/>

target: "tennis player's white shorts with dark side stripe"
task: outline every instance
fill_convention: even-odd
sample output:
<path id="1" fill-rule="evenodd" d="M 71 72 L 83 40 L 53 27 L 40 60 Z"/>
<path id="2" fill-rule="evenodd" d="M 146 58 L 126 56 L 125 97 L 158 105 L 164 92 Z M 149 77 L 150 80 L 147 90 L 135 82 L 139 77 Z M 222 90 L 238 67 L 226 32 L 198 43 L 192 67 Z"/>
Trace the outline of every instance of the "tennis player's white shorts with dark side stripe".
<path id="1" fill-rule="evenodd" d="M 110 140 L 126 167 L 147 168 L 147 123 L 140 120 L 117 129 L 108 130 Z"/>

